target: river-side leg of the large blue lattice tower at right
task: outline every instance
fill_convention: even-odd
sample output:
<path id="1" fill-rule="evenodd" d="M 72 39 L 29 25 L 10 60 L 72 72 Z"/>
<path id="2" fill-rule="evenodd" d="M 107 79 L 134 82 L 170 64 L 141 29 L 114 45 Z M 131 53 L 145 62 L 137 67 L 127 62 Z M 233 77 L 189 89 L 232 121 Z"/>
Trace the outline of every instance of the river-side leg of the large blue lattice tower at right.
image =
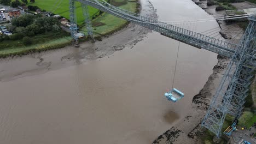
<path id="1" fill-rule="evenodd" d="M 233 95 L 240 91 L 240 88 L 238 88 L 238 83 L 240 83 L 241 79 L 244 79 L 243 75 L 241 75 L 245 69 L 245 65 L 243 65 L 244 62 L 251 61 L 251 57 L 247 57 L 247 54 L 255 55 L 256 20 L 255 17 L 251 17 L 249 20 L 249 25 L 245 31 L 245 34 L 243 34 L 239 44 L 240 46 L 236 48 L 236 52 L 231 58 L 222 81 L 220 82 L 220 85 L 214 94 L 213 100 L 211 101 L 211 105 L 209 106 L 205 118 L 202 121 L 202 127 L 205 127 L 216 134 L 217 139 L 219 139 L 222 135 L 221 130 L 226 114 L 234 111 L 232 107 L 236 106 L 236 104 L 238 104 L 239 110 L 236 115 L 240 115 L 240 105 L 243 103 L 243 101 L 238 100 L 238 102 L 234 104 L 234 99 L 238 99 L 238 97 L 245 97 L 238 95 L 235 98 Z"/>

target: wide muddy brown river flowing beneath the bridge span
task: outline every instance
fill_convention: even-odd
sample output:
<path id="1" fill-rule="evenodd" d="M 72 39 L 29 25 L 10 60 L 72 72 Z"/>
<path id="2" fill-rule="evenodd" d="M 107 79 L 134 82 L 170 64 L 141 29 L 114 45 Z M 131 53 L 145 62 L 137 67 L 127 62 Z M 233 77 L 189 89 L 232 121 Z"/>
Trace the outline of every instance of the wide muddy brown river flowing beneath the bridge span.
<path id="1" fill-rule="evenodd" d="M 163 21 L 211 17 L 191 0 L 150 2 Z M 142 10 L 150 5 L 141 4 Z M 124 44 L 121 51 L 95 58 L 96 47 L 107 49 L 123 39 L 113 35 L 80 49 L 2 60 L 0 143 L 151 143 L 185 117 L 217 63 L 216 53 L 181 43 L 174 87 L 185 97 L 172 103 L 164 93 L 172 87 L 178 41 L 150 32 L 133 47 Z"/>

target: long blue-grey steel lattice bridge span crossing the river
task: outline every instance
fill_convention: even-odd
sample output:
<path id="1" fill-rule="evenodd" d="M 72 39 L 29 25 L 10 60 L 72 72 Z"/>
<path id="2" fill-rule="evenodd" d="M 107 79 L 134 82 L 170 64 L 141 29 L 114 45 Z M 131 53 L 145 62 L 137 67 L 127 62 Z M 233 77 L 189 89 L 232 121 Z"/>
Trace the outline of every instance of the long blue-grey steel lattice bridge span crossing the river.
<path id="1" fill-rule="evenodd" d="M 240 46 L 236 44 L 228 43 L 226 41 L 212 38 L 207 35 L 189 31 L 188 29 L 184 29 L 181 27 L 169 25 L 167 23 L 160 22 L 158 20 L 154 20 L 146 16 L 132 13 L 131 11 L 120 9 L 108 3 L 98 2 L 96 0 L 75 0 L 75 1 L 90 5 L 91 7 L 100 9 L 106 13 L 120 17 L 121 19 L 130 21 L 137 25 L 159 32 L 160 34 L 165 35 L 166 37 L 176 39 L 178 41 L 182 41 L 185 44 L 192 45 L 200 49 L 206 49 L 208 51 L 218 53 L 219 55 L 222 55 L 222 56 L 231 58 L 232 55 L 234 55 L 235 50 L 240 49 Z M 248 57 L 253 57 L 253 61 L 246 62 L 246 63 L 256 67 L 256 64 L 254 63 L 255 62 L 254 60 L 256 60 L 256 58 L 254 56 L 248 56 Z"/>

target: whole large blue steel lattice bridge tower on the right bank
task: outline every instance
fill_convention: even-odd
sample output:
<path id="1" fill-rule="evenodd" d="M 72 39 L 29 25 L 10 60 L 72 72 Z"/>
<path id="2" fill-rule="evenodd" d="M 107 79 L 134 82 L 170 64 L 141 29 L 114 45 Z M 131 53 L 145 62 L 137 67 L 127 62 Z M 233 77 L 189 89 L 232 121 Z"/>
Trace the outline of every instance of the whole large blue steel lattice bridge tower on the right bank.
<path id="1" fill-rule="evenodd" d="M 202 121 L 202 127 L 216 134 L 216 141 L 222 135 L 221 130 L 226 114 L 229 113 L 235 119 L 240 117 L 249 86 L 252 82 L 253 67 L 245 62 L 255 63 L 252 57 L 256 54 L 255 18 L 256 16 L 248 18 L 249 25 L 236 47 L 236 52 L 228 64 L 228 68 Z"/>

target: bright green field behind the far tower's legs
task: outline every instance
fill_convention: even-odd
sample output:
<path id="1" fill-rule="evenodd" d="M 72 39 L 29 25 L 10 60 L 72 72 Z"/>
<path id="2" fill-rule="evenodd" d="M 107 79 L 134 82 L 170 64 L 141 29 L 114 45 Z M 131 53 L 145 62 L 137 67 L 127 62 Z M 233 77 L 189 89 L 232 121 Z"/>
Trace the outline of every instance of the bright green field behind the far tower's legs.
<path id="1" fill-rule="evenodd" d="M 61 15 L 69 19 L 69 0 L 63 0 L 62 3 L 60 3 L 61 1 L 62 0 L 36 0 L 35 3 L 29 2 L 27 5 L 36 5 L 40 9 L 51 11 L 55 14 Z M 57 5 L 59 5 L 59 7 L 57 7 Z M 78 2 L 75 3 L 75 7 L 77 10 L 77 22 L 79 25 L 84 21 L 82 7 L 81 7 L 81 4 Z M 89 13 L 91 17 L 99 12 L 98 9 L 95 9 L 92 7 L 88 7 L 88 8 L 89 8 Z"/>

